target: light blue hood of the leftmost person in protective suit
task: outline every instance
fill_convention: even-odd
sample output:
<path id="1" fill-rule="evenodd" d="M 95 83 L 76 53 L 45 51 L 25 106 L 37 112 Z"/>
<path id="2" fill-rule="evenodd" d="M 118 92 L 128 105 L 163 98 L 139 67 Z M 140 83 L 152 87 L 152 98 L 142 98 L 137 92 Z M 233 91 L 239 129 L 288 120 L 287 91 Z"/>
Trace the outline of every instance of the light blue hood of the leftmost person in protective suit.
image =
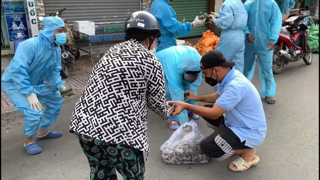
<path id="1" fill-rule="evenodd" d="M 54 47 L 53 35 L 55 29 L 64 28 L 64 22 L 60 17 L 44 17 L 42 19 L 43 29 L 40 30 L 40 38 L 45 45 Z"/>

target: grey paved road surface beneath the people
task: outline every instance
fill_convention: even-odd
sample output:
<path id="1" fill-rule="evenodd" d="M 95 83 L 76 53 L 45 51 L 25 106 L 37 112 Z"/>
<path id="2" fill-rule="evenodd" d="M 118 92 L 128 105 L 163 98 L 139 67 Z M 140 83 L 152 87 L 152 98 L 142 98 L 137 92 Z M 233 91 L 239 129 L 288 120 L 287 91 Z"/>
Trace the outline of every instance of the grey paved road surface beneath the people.
<path id="1" fill-rule="evenodd" d="M 206 164 L 167 165 L 160 158 L 159 147 L 173 132 L 153 112 L 149 113 L 150 155 L 146 161 L 145 179 L 318 179 L 319 154 L 319 69 L 318 54 L 313 63 L 303 61 L 287 65 L 277 82 L 276 104 L 263 103 L 267 118 L 267 136 L 257 148 L 260 162 L 251 169 L 235 173 L 228 163 L 235 157 Z M 259 89 L 257 71 L 253 84 Z M 203 83 L 199 94 L 210 93 Z M 59 139 L 39 141 L 43 152 L 27 155 L 22 148 L 23 117 L 19 112 L 1 115 L 1 178 L 2 179 L 89 179 L 86 157 L 75 135 L 68 133 L 70 114 L 79 94 L 66 100 L 53 129 L 61 129 Z M 211 133 L 202 119 L 197 120 L 204 135 Z M 122 179 L 122 178 L 119 178 Z"/>

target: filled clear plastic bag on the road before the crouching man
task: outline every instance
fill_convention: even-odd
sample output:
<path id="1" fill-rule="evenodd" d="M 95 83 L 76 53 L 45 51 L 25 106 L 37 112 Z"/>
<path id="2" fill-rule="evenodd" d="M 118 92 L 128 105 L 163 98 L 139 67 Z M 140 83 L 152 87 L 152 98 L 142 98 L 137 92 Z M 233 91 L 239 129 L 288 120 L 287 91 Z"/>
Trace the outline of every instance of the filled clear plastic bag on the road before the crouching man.
<path id="1" fill-rule="evenodd" d="M 208 162 L 209 157 L 202 153 L 199 146 L 203 138 L 204 136 L 193 120 L 179 126 L 160 147 L 163 163 L 195 164 Z"/>

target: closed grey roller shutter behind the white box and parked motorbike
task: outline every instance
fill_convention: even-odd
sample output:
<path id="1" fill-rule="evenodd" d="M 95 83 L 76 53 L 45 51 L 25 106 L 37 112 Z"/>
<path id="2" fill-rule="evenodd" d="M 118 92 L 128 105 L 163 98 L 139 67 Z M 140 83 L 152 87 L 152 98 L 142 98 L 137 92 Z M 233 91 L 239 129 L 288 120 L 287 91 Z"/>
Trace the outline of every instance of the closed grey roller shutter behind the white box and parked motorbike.
<path id="1" fill-rule="evenodd" d="M 66 8 L 61 15 L 72 27 L 74 21 L 92 21 L 95 34 L 124 32 L 124 21 L 140 10 L 139 0 L 43 0 L 45 15 Z"/>

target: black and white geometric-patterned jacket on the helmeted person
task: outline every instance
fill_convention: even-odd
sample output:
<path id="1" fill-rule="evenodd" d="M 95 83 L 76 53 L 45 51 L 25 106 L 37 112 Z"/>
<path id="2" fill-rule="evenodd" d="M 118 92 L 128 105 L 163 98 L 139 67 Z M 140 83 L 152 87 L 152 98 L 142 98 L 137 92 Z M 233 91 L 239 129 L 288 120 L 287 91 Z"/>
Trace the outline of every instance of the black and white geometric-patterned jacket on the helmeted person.
<path id="1" fill-rule="evenodd" d="M 147 107 L 168 118 L 162 66 L 140 42 L 121 42 L 94 66 L 69 131 L 149 152 Z"/>

